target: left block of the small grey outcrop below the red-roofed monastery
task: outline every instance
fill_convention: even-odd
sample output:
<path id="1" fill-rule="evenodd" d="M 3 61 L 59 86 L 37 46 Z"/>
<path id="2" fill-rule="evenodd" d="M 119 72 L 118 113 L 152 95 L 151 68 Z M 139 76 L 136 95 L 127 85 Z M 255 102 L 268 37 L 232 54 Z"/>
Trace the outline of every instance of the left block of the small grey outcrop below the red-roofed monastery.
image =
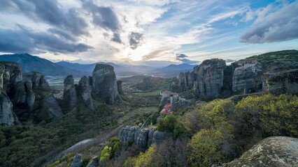
<path id="1" fill-rule="evenodd" d="M 120 130 L 119 138 L 122 142 L 136 142 L 139 136 L 140 127 L 126 126 Z"/>

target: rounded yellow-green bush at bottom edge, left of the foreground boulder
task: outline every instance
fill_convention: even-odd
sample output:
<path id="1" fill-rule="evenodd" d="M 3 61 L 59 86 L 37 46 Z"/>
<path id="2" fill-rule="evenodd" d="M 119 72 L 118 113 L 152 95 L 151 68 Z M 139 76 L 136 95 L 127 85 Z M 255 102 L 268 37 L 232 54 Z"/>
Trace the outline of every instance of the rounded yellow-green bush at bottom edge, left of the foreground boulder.
<path id="1" fill-rule="evenodd" d="M 201 129 L 188 144 L 190 147 L 188 161 L 191 166 L 212 166 L 222 161 L 224 157 L 220 147 L 223 141 L 224 138 L 221 132 Z"/>

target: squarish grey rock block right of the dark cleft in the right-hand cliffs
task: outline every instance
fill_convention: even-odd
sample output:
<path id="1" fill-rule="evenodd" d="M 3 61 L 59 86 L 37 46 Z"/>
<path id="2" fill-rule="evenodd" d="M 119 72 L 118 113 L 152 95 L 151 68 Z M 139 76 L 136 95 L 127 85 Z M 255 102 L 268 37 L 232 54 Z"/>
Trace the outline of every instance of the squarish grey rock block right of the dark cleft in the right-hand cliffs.
<path id="1" fill-rule="evenodd" d="M 233 91 L 254 93 L 262 91 L 263 71 L 261 63 L 247 63 L 237 67 L 233 74 Z"/>

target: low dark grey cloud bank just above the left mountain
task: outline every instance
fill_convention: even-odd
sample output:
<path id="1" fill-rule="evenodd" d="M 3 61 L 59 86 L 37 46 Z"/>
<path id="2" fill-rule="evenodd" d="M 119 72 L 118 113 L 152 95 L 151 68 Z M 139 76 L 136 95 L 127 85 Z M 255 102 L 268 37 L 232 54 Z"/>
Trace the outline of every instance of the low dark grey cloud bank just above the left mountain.
<path id="1" fill-rule="evenodd" d="M 45 53 L 75 53 L 87 51 L 92 47 L 83 43 L 62 40 L 48 32 L 34 32 L 19 26 L 16 30 L 0 29 L 0 51 L 27 52 L 31 54 Z"/>

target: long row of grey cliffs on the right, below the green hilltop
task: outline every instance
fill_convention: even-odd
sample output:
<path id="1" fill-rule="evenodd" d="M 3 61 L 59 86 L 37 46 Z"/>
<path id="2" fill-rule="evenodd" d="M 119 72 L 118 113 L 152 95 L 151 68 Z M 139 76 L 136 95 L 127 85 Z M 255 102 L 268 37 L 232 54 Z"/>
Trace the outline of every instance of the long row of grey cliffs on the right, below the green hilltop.
<path id="1" fill-rule="evenodd" d="M 206 60 L 194 67 L 192 72 L 181 72 L 178 79 L 173 79 L 170 88 L 173 92 L 192 90 L 199 98 L 262 91 L 297 93 L 297 74 L 289 71 L 298 69 L 297 55 L 295 50 L 276 51 L 231 65 L 225 65 L 225 61 L 218 58 Z"/>

